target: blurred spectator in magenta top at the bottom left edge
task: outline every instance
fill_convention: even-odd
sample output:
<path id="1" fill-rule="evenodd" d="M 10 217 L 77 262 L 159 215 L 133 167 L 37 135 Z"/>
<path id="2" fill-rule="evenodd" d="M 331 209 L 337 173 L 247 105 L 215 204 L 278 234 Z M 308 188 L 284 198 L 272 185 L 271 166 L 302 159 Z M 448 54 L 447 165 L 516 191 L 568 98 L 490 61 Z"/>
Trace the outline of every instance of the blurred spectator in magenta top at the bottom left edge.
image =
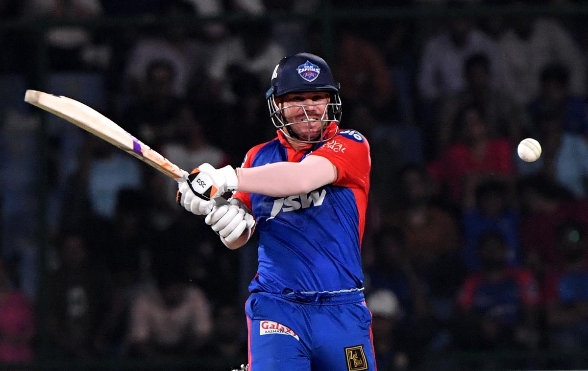
<path id="1" fill-rule="evenodd" d="M 33 306 L 9 282 L 0 258 L 0 362 L 31 362 L 35 356 Z"/>

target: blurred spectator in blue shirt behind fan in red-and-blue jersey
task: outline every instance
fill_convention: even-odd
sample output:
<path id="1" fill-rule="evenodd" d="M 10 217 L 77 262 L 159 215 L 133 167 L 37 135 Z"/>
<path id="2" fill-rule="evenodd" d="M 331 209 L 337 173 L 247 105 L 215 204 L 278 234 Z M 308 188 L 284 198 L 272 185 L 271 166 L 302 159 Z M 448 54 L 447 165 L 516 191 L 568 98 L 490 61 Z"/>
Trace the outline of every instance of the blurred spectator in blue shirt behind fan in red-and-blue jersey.
<path id="1" fill-rule="evenodd" d="M 497 231 L 505 238 L 508 267 L 522 264 L 520 215 L 512 205 L 509 186 L 502 181 L 488 180 L 468 190 L 464 198 L 463 258 L 469 271 L 478 272 L 482 268 L 477 245 L 487 231 Z"/>

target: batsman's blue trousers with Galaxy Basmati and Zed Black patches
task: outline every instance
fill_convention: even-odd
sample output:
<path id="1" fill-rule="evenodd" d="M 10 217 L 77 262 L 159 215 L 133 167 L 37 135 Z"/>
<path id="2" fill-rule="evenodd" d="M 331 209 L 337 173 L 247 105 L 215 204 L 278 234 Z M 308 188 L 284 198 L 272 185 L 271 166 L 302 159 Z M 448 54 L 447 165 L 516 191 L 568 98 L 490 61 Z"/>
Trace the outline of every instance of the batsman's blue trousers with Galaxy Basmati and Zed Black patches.
<path id="1" fill-rule="evenodd" d="M 245 304 L 249 371 L 377 370 L 363 292 L 268 294 Z"/>

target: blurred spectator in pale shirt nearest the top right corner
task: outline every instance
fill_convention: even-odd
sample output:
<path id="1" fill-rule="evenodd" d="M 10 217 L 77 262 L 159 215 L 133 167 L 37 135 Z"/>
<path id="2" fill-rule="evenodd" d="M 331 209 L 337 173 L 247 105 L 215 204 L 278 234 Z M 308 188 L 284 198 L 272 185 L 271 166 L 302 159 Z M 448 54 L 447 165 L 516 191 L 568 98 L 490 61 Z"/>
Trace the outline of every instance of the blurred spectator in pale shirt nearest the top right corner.
<path id="1" fill-rule="evenodd" d="M 499 76 L 505 92 L 518 104 L 529 104 L 537 96 L 541 71 L 554 62 L 569 69 L 573 95 L 586 93 L 586 60 L 573 36 L 559 22 L 521 15 L 510 18 L 507 25 L 499 40 L 503 63 Z"/>

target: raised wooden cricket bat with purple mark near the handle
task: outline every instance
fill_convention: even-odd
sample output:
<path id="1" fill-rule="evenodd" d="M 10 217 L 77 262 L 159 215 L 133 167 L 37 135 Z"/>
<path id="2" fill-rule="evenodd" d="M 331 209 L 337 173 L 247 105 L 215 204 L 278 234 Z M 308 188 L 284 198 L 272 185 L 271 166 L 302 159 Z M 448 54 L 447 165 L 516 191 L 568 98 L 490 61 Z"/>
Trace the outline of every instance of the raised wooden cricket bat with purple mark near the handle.
<path id="1" fill-rule="evenodd" d="M 78 102 L 61 95 L 54 95 L 38 90 L 26 90 L 25 102 L 33 104 L 47 112 L 65 119 L 72 124 L 81 127 L 83 130 L 94 134 L 108 141 L 113 146 L 119 147 L 123 151 L 132 154 L 139 160 L 148 163 L 152 167 L 161 171 L 168 177 L 182 182 L 186 179 L 186 171 L 173 164 L 167 158 L 163 157 L 157 151 L 151 149 L 142 141 L 136 139 L 122 127 L 95 109 L 86 104 Z M 195 171 L 198 171 L 196 169 Z M 212 180 L 205 174 L 198 173 L 196 179 L 192 181 L 192 190 L 199 197 L 210 200 L 216 196 L 216 187 L 212 186 Z"/>

